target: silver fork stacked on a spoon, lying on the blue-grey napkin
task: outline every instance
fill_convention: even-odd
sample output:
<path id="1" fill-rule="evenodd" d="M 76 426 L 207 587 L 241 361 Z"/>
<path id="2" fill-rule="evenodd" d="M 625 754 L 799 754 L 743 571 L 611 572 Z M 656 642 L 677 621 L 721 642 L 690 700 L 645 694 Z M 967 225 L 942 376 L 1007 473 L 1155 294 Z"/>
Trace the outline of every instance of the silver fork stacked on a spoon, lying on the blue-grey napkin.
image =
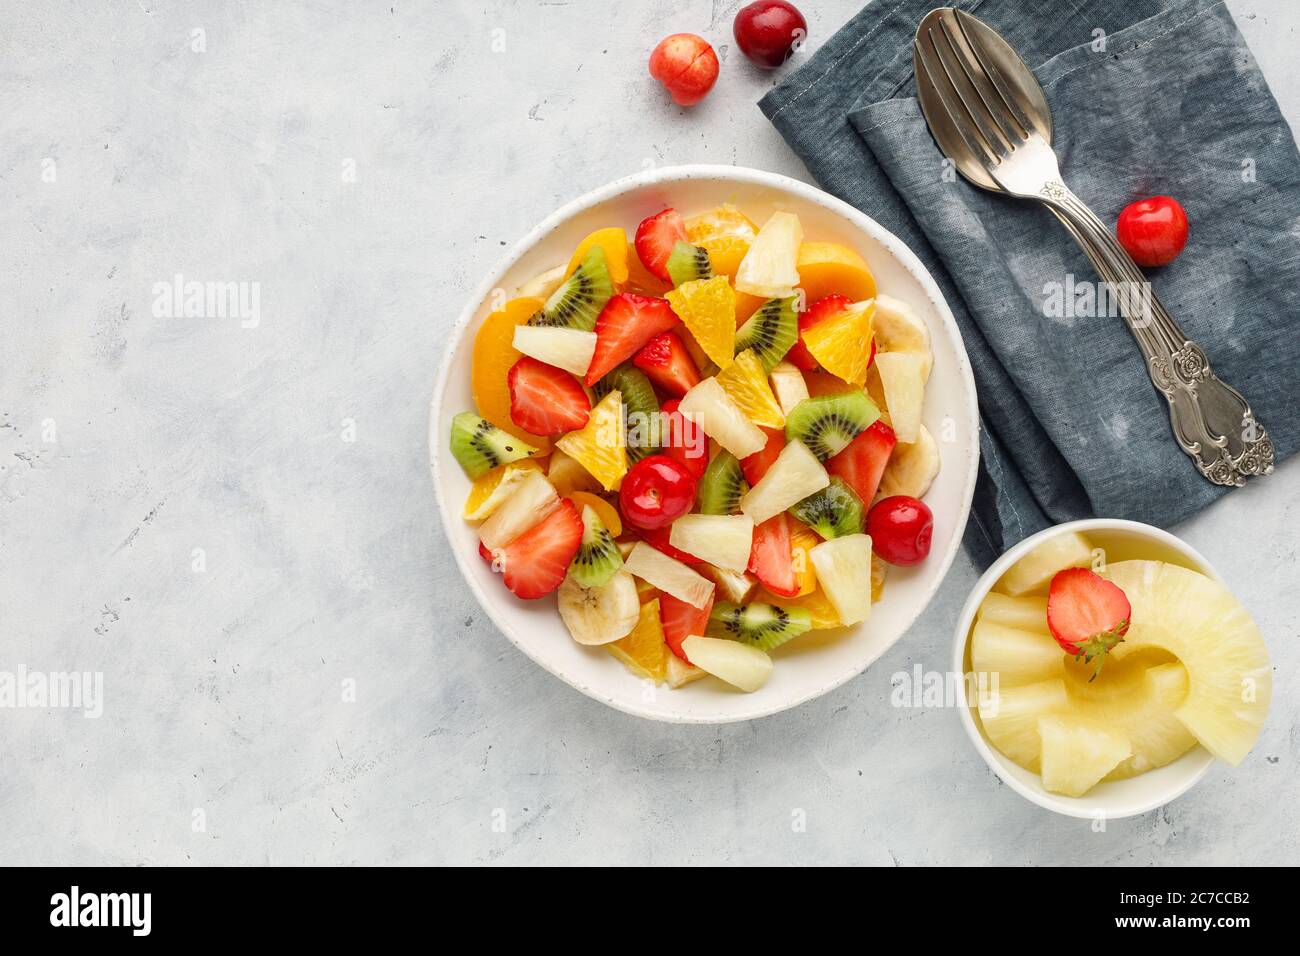
<path id="1" fill-rule="evenodd" d="M 1019 55 L 984 22 L 944 7 L 920 21 L 913 61 L 926 122 L 958 172 L 983 189 L 1044 203 L 1088 254 L 1200 472 L 1219 485 L 1270 473 L 1273 442 L 1249 403 L 1214 375 L 1138 264 L 1062 181 L 1052 112 Z"/>

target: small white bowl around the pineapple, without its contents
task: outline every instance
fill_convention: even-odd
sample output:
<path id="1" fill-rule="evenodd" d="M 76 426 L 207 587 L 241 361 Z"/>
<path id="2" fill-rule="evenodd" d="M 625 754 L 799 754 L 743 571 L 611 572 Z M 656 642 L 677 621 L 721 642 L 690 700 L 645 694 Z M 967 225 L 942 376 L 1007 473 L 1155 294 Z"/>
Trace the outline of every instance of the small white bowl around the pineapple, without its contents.
<path id="1" fill-rule="evenodd" d="M 975 584 L 966 606 L 962 607 L 961 619 L 957 622 L 957 636 L 953 641 L 953 672 L 965 674 L 966 645 L 970 641 L 971 627 L 975 624 L 975 615 L 984 597 L 1011 564 L 1023 558 L 1046 538 L 1056 537 L 1066 532 L 1076 531 L 1089 537 L 1105 538 L 1106 550 L 1112 553 L 1112 561 L 1124 561 L 1131 558 L 1148 558 L 1167 561 L 1182 564 L 1193 571 L 1200 571 L 1213 578 L 1219 584 L 1223 579 L 1210 566 L 1205 557 L 1195 548 L 1182 541 L 1167 531 L 1161 531 L 1140 522 L 1126 522 L 1118 518 L 1089 518 L 1082 522 L 1058 524 L 1054 528 L 1040 531 L 1032 537 L 1027 537 L 993 562 L 993 566 L 984 572 L 984 576 Z M 1118 542 L 1118 548 L 1114 544 Z M 1115 551 L 1118 550 L 1118 554 Z M 959 713 L 962 726 L 970 736 L 975 749 L 997 774 L 1002 783 L 1014 790 L 1039 806 L 1045 806 L 1054 813 L 1067 817 L 1083 817 L 1092 819 L 1119 819 L 1121 817 L 1134 817 L 1139 813 L 1148 813 L 1169 801 L 1182 796 L 1209 771 L 1214 762 L 1214 756 L 1197 744 L 1173 763 L 1148 770 L 1145 774 L 1131 777 L 1127 780 L 1112 780 L 1098 783 L 1082 797 L 1069 797 L 1061 793 L 1050 793 L 1043 788 L 1043 779 L 1024 767 L 1014 763 L 994 748 L 975 717 L 974 705 L 966 698 L 966 682 L 957 682 L 961 688 Z"/>

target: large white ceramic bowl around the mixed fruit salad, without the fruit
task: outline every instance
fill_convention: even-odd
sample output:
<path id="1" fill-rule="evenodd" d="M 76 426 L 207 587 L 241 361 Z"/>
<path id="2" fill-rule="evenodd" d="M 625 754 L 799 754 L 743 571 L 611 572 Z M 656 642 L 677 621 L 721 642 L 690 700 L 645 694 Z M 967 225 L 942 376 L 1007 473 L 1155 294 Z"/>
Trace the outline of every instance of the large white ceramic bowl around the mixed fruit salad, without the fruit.
<path id="1" fill-rule="evenodd" d="M 642 219 L 666 206 L 692 215 L 724 202 L 737 204 L 759 224 L 777 209 L 797 213 L 810 239 L 857 248 L 871 265 L 880 290 L 920 312 L 935 351 L 924 421 L 939 440 L 942 457 L 941 472 L 926 496 L 935 512 L 930 558 L 918 567 L 890 571 L 870 622 L 849 631 L 812 632 L 781 648 L 771 680 L 750 695 L 712 679 L 679 689 L 651 688 L 603 648 L 576 644 L 560 622 L 554 598 L 516 600 L 478 557 L 474 528 L 460 516 L 469 480 L 445 438 L 451 416 L 473 408 L 473 333 L 489 311 L 493 290 L 514 294 L 534 274 L 564 263 L 584 235 L 602 226 L 621 225 L 630 235 Z M 537 663 L 582 693 L 629 714 L 675 722 L 724 723 L 774 714 L 861 674 L 904 635 L 944 579 L 966 525 L 978 460 L 975 382 L 966 350 L 952 312 L 920 261 L 897 237 L 846 203 L 783 176 L 734 166 L 675 166 L 618 179 L 533 229 L 465 304 L 451 332 L 429 421 L 429 463 L 447 540 L 469 589 L 497 627 Z"/>

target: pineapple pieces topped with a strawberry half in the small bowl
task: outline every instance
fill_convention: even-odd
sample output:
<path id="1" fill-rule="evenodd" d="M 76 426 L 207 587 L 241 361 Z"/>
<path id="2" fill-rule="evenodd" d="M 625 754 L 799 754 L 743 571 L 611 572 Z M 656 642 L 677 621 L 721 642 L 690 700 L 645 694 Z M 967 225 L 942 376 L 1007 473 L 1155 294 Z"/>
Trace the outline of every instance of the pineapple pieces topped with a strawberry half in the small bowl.
<path id="1" fill-rule="evenodd" d="M 1268 652 L 1222 584 L 1067 532 L 1020 558 L 980 605 L 978 721 L 1043 787 L 1078 797 L 1193 747 L 1239 763 L 1269 711 Z"/>

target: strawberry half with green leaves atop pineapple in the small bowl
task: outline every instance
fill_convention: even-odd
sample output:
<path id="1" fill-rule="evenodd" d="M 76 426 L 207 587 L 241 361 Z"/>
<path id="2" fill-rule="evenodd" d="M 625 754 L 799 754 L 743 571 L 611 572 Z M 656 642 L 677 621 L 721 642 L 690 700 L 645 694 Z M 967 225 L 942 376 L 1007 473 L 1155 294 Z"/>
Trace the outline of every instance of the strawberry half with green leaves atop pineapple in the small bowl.
<path id="1" fill-rule="evenodd" d="M 1057 571 L 1048 588 L 1048 630 L 1075 659 L 1097 662 L 1089 680 L 1101 672 L 1110 649 L 1123 641 L 1131 617 L 1124 592 L 1086 567 Z"/>

